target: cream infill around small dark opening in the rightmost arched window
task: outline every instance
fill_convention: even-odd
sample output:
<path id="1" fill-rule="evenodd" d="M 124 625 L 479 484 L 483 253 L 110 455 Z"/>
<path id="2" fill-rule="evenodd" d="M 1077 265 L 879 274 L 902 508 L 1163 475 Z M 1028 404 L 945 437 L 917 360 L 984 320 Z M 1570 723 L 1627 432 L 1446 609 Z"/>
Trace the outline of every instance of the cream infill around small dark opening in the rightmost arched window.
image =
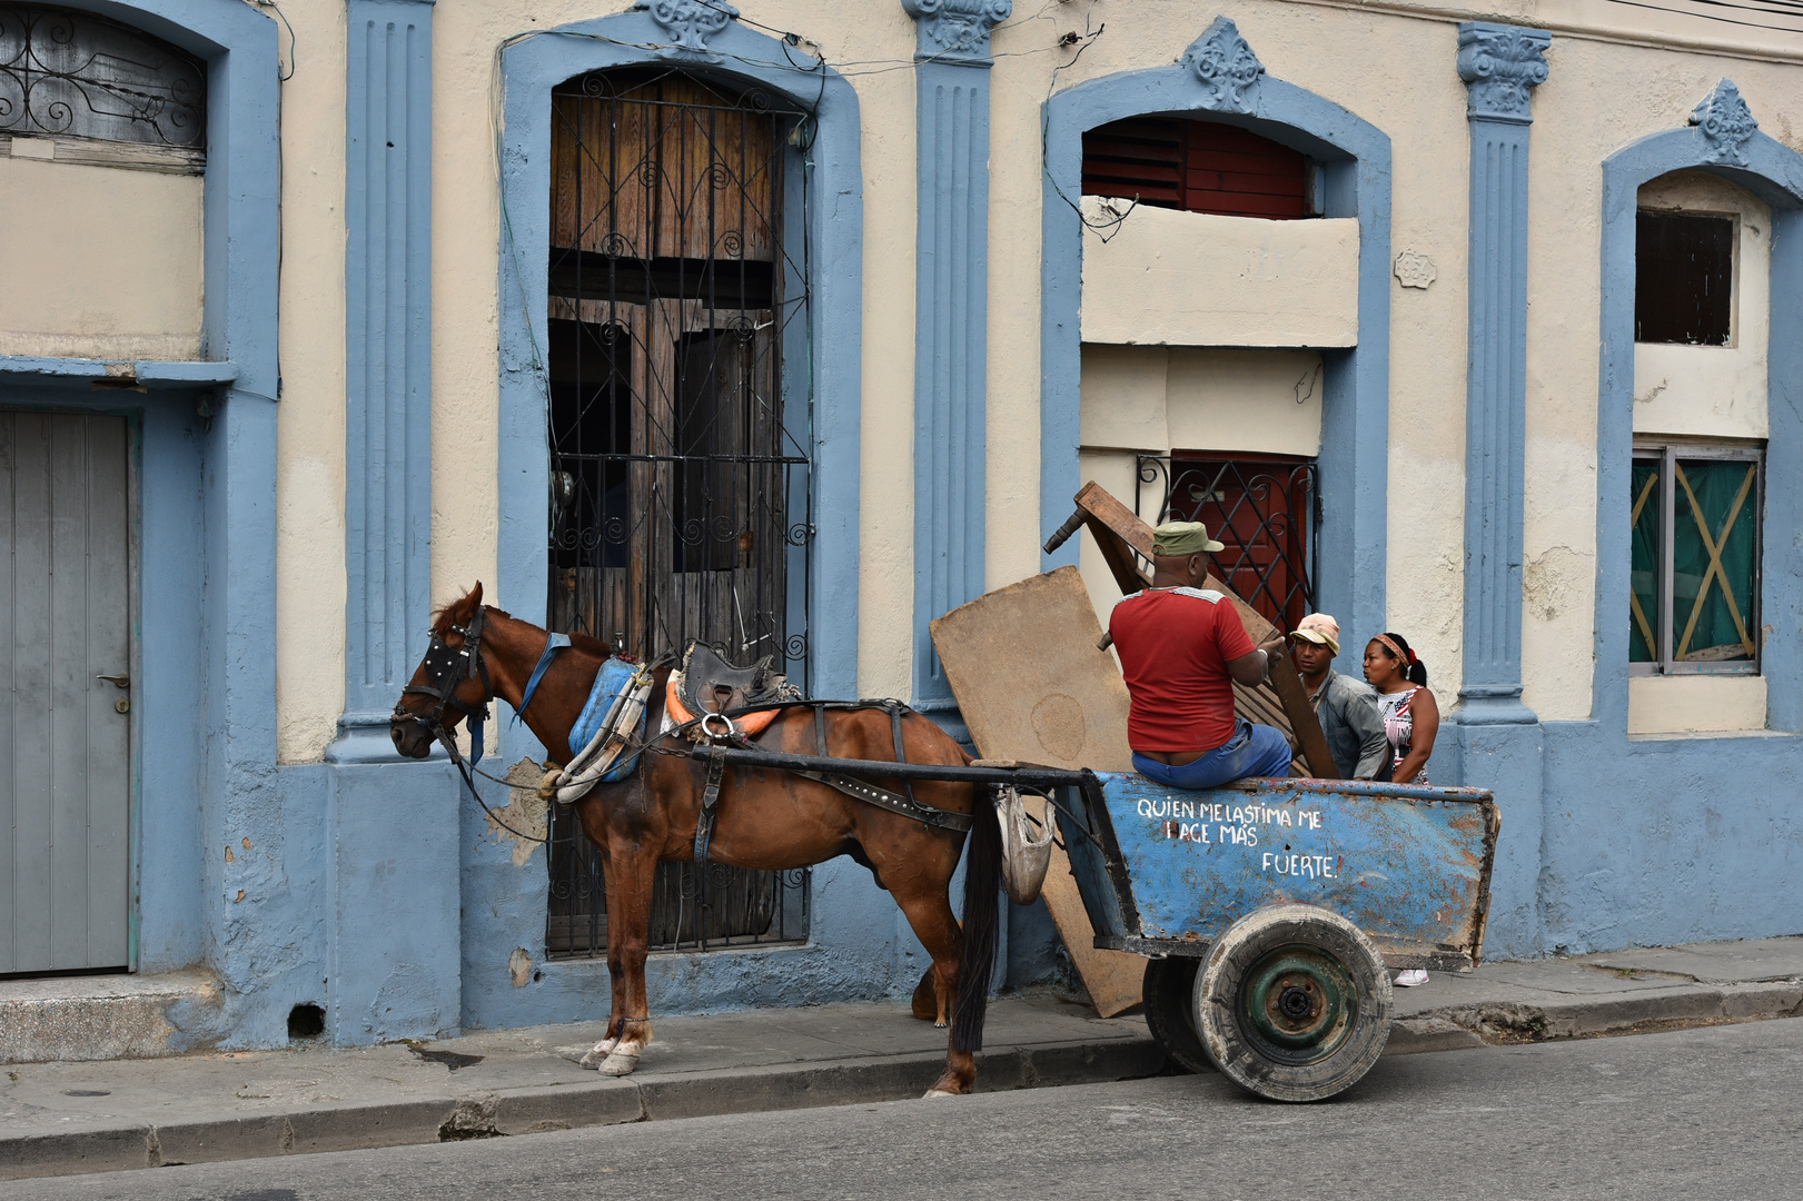
<path id="1" fill-rule="evenodd" d="M 1763 438 L 1772 328 L 1772 211 L 1753 193 L 1704 171 L 1675 171 L 1641 188 L 1641 207 L 1718 213 L 1736 224 L 1727 346 L 1637 343 L 1634 433 Z"/>

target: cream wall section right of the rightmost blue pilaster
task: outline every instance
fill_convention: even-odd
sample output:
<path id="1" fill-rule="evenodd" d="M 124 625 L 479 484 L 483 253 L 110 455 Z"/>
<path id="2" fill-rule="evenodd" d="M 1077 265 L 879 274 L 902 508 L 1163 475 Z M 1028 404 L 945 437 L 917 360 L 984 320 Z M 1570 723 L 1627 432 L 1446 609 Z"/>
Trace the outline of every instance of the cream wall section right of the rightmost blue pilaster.
<path id="1" fill-rule="evenodd" d="M 1781 38 L 1767 45 L 1781 45 Z M 1792 146 L 1798 52 L 1718 56 L 1554 38 L 1534 96 L 1527 325 L 1525 701 L 1543 720 L 1590 714 L 1596 604 L 1596 397 L 1601 254 L 1597 164 L 1682 128 L 1733 78 L 1762 128 Z M 1632 79 L 1634 87 L 1623 87 Z M 1392 527 L 1394 528 L 1394 527 Z M 1394 586 L 1394 577 L 1392 577 Z M 1623 615 L 1626 620 L 1626 615 Z"/>

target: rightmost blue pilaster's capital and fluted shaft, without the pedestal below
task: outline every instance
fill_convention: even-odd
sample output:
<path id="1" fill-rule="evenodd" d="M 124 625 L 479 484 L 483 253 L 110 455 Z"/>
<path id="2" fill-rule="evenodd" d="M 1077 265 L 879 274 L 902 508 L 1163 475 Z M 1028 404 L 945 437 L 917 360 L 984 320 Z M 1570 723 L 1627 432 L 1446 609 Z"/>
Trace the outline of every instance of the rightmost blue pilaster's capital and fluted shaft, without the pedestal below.
<path id="1" fill-rule="evenodd" d="M 1460 720 L 1529 723 L 1522 703 L 1522 490 L 1527 424 L 1527 132 L 1547 78 L 1538 29 L 1459 27 L 1471 124 L 1466 595 Z"/>

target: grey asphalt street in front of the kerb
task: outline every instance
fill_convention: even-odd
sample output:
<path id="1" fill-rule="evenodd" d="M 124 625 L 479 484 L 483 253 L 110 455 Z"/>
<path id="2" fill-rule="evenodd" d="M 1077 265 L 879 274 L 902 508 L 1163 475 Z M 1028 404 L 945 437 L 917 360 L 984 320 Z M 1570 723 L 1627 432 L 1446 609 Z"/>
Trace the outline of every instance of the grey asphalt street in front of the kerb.
<path id="1" fill-rule="evenodd" d="M 1320 1105 L 1159 1077 L 16 1181 L 0 1199 L 1794 1201 L 1799 1136 L 1789 1019 L 1394 1057 Z"/>

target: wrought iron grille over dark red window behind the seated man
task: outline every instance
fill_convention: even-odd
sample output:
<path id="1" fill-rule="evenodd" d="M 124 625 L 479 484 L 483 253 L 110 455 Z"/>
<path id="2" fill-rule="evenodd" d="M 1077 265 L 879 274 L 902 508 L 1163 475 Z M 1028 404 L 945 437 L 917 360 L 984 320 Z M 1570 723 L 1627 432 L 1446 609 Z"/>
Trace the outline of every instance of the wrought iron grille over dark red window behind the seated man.
<path id="1" fill-rule="evenodd" d="M 1226 545 L 1210 555 L 1213 573 L 1266 620 L 1295 629 L 1314 610 L 1314 460 L 1141 454 L 1136 512 L 1147 512 L 1152 500 L 1158 521 L 1201 521 Z"/>

